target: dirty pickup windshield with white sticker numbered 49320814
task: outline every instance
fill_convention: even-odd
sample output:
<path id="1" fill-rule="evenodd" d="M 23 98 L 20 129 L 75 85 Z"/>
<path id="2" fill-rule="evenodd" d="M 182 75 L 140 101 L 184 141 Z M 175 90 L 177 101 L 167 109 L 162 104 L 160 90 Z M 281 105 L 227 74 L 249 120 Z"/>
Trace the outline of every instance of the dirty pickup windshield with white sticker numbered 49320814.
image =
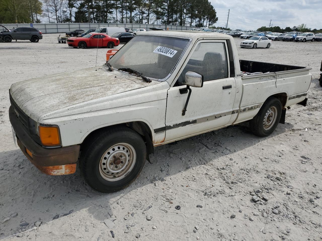
<path id="1" fill-rule="evenodd" d="M 174 37 L 138 35 L 118 50 L 109 64 L 161 80 L 170 74 L 188 42 Z"/>

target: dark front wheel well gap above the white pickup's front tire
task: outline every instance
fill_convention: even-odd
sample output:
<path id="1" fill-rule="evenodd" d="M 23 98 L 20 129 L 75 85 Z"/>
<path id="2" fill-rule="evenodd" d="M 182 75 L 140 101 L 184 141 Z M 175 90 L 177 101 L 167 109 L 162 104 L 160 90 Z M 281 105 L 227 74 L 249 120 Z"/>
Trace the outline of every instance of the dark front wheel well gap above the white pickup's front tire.
<path id="1" fill-rule="evenodd" d="M 130 129 L 133 129 L 142 137 L 142 139 L 144 140 L 147 146 L 147 158 L 149 154 L 154 153 L 152 131 L 149 128 L 149 126 L 143 121 L 131 121 L 131 122 L 121 123 L 121 124 L 112 125 L 112 126 L 106 126 L 106 127 L 93 130 L 92 132 L 90 132 L 90 134 L 88 134 L 85 137 L 85 139 L 81 143 L 81 149 L 83 146 L 86 146 L 86 143 L 90 141 L 90 139 L 93 138 L 98 133 L 101 133 L 102 131 L 105 131 L 107 129 L 115 128 L 116 126 L 123 126 L 123 127 L 128 127 Z"/>

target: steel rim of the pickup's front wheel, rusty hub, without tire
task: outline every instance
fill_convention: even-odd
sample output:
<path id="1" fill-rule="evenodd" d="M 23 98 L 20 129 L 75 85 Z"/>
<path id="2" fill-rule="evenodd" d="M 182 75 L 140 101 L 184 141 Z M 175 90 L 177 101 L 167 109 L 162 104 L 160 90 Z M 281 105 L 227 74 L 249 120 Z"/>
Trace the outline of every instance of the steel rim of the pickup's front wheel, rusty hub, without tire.
<path id="1" fill-rule="evenodd" d="M 136 157 L 136 151 L 132 145 L 124 142 L 117 143 L 109 147 L 101 157 L 99 174 L 107 181 L 119 181 L 132 171 Z"/>

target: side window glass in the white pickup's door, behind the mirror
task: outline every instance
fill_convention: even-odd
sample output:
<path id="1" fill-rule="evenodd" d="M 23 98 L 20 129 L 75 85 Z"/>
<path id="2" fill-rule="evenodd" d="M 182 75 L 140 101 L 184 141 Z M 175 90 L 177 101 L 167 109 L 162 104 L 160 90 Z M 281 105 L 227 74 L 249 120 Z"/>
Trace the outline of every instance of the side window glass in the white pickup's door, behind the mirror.
<path id="1" fill-rule="evenodd" d="M 225 44 L 221 42 L 199 43 L 179 76 L 178 83 L 185 82 L 187 71 L 203 75 L 204 81 L 228 78 Z"/>

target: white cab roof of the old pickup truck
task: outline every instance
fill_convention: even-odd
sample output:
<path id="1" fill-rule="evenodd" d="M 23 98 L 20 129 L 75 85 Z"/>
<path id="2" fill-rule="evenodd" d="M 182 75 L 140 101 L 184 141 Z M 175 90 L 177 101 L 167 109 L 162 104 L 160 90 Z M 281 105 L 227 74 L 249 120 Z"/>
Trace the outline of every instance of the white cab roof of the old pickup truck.
<path id="1" fill-rule="evenodd" d="M 144 31 L 138 32 L 137 35 L 159 35 L 159 36 L 170 36 L 170 37 L 183 37 L 197 39 L 232 39 L 232 36 L 216 33 L 216 32 L 204 32 L 204 31 Z"/>

